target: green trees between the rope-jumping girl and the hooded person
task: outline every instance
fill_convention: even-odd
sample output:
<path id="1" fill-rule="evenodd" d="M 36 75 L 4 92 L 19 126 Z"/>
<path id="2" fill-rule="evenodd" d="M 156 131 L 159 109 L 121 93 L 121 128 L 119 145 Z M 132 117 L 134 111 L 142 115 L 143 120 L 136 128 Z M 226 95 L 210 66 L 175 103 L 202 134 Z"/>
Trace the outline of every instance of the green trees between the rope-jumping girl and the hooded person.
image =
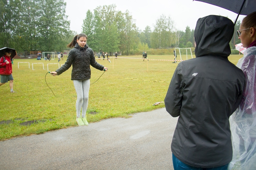
<path id="1" fill-rule="evenodd" d="M 82 25 L 83 33 L 88 35 L 88 45 L 95 51 L 118 51 L 133 55 L 148 50 L 176 47 L 193 47 L 194 30 L 187 26 L 185 32 L 175 28 L 172 18 L 160 16 L 151 30 L 146 26 L 141 31 L 128 10 L 116 10 L 116 5 L 98 6 L 88 10 Z"/>

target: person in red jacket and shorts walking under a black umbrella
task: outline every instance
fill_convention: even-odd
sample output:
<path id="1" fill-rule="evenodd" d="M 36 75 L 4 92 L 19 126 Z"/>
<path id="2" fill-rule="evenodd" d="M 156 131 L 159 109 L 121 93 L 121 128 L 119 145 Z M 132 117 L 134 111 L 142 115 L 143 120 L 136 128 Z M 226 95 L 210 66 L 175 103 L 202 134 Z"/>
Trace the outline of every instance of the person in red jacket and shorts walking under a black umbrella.
<path id="1" fill-rule="evenodd" d="M 5 55 L 0 58 L 0 86 L 10 81 L 11 93 L 15 93 L 15 91 L 13 91 L 11 54 L 11 51 L 6 51 Z"/>

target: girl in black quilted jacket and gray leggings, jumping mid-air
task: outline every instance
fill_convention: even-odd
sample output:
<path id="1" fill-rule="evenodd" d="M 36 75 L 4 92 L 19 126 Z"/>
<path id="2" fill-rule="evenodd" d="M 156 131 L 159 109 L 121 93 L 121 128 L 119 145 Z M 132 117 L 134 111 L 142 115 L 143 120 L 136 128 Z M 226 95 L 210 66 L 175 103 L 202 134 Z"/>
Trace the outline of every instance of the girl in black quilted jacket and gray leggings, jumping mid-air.
<path id="1" fill-rule="evenodd" d="M 97 63 L 93 50 L 88 47 L 86 42 L 87 35 L 80 33 L 74 36 L 72 42 L 67 45 L 68 48 L 74 47 L 69 51 L 67 61 L 58 70 L 50 72 L 53 76 L 60 75 L 64 71 L 68 70 L 72 65 L 71 80 L 73 80 L 74 87 L 77 92 L 76 121 L 79 126 L 88 125 L 86 120 L 86 110 L 88 106 L 91 78 L 90 65 L 101 71 L 108 70 L 108 68 Z M 81 108 L 82 117 L 80 115 Z"/>

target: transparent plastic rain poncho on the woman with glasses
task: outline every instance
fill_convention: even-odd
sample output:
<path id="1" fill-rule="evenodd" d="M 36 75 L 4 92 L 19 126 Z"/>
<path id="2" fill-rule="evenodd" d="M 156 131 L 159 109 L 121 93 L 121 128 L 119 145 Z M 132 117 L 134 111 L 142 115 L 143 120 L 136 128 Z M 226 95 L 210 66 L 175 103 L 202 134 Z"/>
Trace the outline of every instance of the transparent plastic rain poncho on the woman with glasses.
<path id="1" fill-rule="evenodd" d="M 237 67 L 243 70 L 246 87 L 238 109 L 230 116 L 233 159 L 229 170 L 256 169 L 256 47 L 247 48 Z"/>

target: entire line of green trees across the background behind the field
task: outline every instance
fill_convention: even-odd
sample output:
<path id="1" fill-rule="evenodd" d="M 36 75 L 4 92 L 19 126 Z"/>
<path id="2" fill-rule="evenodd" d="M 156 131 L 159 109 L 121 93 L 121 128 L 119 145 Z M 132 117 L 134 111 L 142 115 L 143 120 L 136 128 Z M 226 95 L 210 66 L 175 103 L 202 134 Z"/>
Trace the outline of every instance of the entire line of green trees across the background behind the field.
<path id="1" fill-rule="evenodd" d="M 0 47 L 23 51 L 63 51 L 77 34 L 70 30 L 64 0 L 0 0 Z M 83 19 L 82 32 L 95 52 L 118 52 L 122 55 L 140 54 L 150 48 L 169 49 L 194 46 L 194 29 L 185 32 L 175 27 L 170 16 L 161 15 L 153 24 L 139 30 L 128 10 L 116 5 L 98 6 L 88 10 Z M 239 29 L 240 21 L 236 28 Z M 238 30 L 237 29 L 237 30 Z M 240 40 L 234 35 L 231 49 Z"/>

